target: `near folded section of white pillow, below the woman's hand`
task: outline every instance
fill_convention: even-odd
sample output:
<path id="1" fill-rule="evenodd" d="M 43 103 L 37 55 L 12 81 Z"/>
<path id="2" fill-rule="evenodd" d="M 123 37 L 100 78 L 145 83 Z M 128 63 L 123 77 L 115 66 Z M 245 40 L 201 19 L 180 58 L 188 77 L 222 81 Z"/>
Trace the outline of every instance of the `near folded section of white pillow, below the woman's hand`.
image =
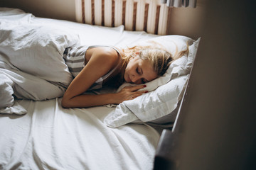
<path id="1" fill-rule="evenodd" d="M 114 112 L 107 115 L 106 125 L 117 128 L 135 120 L 152 122 L 174 111 L 181 99 L 188 75 L 177 77 L 169 83 L 159 86 L 155 91 L 144 94 L 134 100 L 119 104 Z M 136 121 L 138 122 L 138 121 Z M 168 121 L 169 122 L 169 121 Z M 162 124 L 156 122 L 156 124 Z"/>

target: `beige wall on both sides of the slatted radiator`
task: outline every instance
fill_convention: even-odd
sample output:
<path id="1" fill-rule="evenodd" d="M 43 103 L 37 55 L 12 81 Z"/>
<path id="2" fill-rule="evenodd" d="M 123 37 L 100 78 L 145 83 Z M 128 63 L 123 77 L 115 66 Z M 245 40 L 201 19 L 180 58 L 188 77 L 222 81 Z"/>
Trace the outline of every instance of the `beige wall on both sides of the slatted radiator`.
<path id="1" fill-rule="evenodd" d="M 198 0 L 196 8 L 172 8 L 168 34 L 201 36 L 204 1 Z M 38 17 L 75 21 L 75 0 L 1 0 L 0 6 L 21 8 Z"/>

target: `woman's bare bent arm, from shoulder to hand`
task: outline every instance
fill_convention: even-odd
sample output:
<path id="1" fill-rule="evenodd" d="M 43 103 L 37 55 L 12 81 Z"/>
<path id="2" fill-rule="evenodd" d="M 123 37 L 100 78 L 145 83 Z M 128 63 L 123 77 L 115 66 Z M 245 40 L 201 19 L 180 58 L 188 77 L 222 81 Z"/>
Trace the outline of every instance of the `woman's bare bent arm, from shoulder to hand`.
<path id="1" fill-rule="evenodd" d="M 91 106 L 102 106 L 106 104 L 119 104 L 141 96 L 146 91 L 137 91 L 144 88 L 141 86 L 126 87 L 117 94 L 83 94 L 92 84 L 110 72 L 119 62 L 119 55 L 110 47 L 98 47 L 87 50 L 85 55 L 87 64 L 68 86 L 63 96 L 62 106 L 64 108 L 86 108 Z M 132 97 L 132 98 L 131 98 Z"/>

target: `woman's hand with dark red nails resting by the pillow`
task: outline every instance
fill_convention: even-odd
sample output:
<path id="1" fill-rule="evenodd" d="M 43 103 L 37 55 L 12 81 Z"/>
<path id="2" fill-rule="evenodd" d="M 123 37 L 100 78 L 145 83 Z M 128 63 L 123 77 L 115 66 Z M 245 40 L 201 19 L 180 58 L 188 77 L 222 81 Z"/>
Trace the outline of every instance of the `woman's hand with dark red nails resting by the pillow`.
<path id="1" fill-rule="evenodd" d="M 145 88 L 146 85 L 140 86 L 126 86 L 124 89 L 115 94 L 115 99 L 117 100 L 117 104 L 122 103 L 123 101 L 132 100 L 141 96 L 142 94 L 147 93 L 148 91 L 138 91 L 139 89 Z"/>

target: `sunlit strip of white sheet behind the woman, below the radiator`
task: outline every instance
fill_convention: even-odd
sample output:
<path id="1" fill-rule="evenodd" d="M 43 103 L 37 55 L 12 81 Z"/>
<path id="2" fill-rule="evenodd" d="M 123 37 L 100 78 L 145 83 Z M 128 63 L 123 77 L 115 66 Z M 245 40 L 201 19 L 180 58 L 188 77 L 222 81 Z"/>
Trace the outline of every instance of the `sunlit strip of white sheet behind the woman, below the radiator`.
<path id="1" fill-rule="evenodd" d="M 74 30 L 74 32 L 78 33 L 80 36 L 81 45 L 114 45 L 117 47 L 127 47 L 141 40 L 159 37 L 159 35 L 149 34 L 144 31 L 124 30 L 124 26 L 107 28 L 47 18 L 33 18 L 31 23 L 58 24 L 58 26 L 62 26 L 63 28 Z"/>

